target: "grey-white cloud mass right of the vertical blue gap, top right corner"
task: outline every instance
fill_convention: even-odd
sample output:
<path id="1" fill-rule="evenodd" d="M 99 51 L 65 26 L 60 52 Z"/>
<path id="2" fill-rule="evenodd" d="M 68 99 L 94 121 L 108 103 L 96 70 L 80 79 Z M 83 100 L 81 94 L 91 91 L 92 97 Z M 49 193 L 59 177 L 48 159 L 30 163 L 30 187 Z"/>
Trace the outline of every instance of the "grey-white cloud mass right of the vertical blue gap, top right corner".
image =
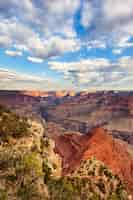
<path id="1" fill-rule="evenodd" d="M 84 2 L 86 2 L 85 9 L 88 7 L 88 13 L 91 15 L 91 17 L 87 17 L 85 14 L 88 22 L 91 18 L 91 23 L 84 23 L 81 20 L 85 28 L 88 26 L 88 40 L 104 40 L 106 45 L 118 47 L 120 40 L 133 36 L 132 0 L 116 0 L 115 5 L 113 0 L 102 0 L 100 4 L 97 0 Z M 121 48 L 128 47 L 132 47 L 132 43 L 129 41 L 121 45 Z"/>

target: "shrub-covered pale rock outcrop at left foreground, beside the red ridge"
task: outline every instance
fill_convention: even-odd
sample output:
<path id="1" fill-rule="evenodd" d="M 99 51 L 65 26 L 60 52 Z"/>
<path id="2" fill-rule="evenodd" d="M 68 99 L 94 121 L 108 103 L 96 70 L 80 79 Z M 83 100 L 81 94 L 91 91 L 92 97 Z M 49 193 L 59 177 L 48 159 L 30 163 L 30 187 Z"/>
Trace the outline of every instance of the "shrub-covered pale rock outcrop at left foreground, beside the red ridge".
<path id="1" fill-rule="evenodd" d="M 39 120 L 22 118 L 0 107 L 0 200 L 44 200 L 44 180 L 61 175 L 54 141 Z"/>

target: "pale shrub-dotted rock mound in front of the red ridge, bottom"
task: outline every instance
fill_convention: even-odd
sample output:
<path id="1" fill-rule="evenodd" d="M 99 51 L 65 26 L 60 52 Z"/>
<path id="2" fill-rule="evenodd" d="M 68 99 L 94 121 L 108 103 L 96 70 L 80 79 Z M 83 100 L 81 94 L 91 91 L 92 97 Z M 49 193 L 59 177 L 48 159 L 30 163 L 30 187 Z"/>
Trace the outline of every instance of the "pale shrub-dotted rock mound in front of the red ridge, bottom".
<path id="1" fill-rule="evenodd" d="M 53 200 L 129 200 L 125 186 L 118 176 L 100 161 L 91 158 L 67 176 L 51 178 L 48 182 Z"/>

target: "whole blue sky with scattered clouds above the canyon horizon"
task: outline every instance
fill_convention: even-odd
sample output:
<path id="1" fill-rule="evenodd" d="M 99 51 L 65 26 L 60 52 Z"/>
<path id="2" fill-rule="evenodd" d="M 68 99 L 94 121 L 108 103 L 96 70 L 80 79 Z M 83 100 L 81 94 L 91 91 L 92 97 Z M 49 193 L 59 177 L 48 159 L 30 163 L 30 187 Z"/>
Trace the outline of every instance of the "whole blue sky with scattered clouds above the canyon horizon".
<path id="1" fill-rule="evenodd" d="M 0 0 L 0 89 L 132 90 L 133 0 Z"/>

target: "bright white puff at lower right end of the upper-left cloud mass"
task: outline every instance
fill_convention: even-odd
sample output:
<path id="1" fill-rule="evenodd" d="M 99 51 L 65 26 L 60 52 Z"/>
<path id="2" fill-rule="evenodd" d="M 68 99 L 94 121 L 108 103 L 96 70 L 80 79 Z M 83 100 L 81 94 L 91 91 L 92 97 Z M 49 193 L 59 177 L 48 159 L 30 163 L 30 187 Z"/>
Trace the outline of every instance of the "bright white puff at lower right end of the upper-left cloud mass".
<path id="1" fill-rule="evenodd" d="M 43 41 L 29 39 L 29 49 L 32 54 L 40 58 L 58 56 L 66 52 L 76 51 L 80 48 L 80 42 L 72 38 L 53 36 Z"/>

